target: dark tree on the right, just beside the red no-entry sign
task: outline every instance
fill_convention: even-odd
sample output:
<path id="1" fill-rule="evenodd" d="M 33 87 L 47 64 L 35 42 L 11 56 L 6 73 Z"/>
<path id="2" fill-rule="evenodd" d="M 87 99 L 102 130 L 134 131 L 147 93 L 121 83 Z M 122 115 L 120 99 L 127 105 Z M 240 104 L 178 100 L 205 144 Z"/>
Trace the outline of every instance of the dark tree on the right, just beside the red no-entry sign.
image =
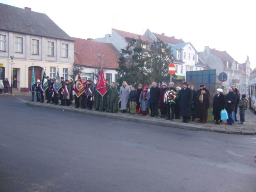
<path id="1" fill-rule="evenodd" d="M 170 79 L 168 65 L 173 62 L 172 49 L 157 39 L 151 44 L 149 55 L 152 81 L 167 82 Z"/>

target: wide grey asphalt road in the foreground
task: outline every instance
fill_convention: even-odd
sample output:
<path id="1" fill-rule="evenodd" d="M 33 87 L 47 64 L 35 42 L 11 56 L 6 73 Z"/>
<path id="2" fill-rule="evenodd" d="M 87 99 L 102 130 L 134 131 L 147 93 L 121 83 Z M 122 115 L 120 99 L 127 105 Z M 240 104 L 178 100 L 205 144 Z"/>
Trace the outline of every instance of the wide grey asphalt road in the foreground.
<path id="1" fill-rule="evenodd" d="M 29 106 L 0 96 L 1 192 L 255 192 L 256 136 Z"/>

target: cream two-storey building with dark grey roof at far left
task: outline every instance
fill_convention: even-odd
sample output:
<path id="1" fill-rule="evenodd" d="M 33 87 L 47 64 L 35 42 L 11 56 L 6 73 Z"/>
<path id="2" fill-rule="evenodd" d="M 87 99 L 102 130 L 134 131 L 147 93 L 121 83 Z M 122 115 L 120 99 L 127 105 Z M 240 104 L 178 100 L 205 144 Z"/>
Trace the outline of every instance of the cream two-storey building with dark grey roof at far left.
<path id="1" fill-rule="evenodd" d="M 68 79 L 73 63 L 74 40 L 46 14 L 0 3 L 1 79 L 28 92 L 33 67 L 36 80 L 42 80 L 44 71 L 55 78 L 58 70 Z"/>

